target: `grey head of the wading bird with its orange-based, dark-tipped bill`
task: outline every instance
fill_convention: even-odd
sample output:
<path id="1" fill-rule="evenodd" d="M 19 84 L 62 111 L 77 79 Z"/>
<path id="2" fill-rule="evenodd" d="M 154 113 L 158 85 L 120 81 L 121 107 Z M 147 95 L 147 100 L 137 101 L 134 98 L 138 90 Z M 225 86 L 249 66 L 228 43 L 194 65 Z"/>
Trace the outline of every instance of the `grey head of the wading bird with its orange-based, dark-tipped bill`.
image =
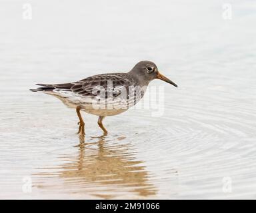
<path id="1" fill-rule="evenodd" d="M 143 81 L 143 83 L 146 85 L 153 79 L 161 79 L 162 81 L 178 87 L 175 83 L 173 83 L 173 81 L 162 75 L 158 71 L 157 65 L 151 61 L 140 61 L 129 73 L 135 77 L 139 77 L 139 79 L 141 79 L 141 81 Z"/>

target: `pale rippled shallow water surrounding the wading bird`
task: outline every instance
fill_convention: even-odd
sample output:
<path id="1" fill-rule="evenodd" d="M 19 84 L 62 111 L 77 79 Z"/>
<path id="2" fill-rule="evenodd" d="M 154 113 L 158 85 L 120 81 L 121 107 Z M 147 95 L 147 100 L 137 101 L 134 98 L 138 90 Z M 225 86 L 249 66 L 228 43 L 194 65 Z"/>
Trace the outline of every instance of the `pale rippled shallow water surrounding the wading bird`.
<path id="1" fill-rule="evenodd" d="M 31 20 L 0 3 L 1 198 L 256 198 L 254 1 L 231 20 L 223 1 L 55 2 Z M 154 81 L 163 114 L 105 118 L 107 136 L 84 113 L 82 140 L 74 110 L 29 91 L 145 59 L 179 89 Z"/>

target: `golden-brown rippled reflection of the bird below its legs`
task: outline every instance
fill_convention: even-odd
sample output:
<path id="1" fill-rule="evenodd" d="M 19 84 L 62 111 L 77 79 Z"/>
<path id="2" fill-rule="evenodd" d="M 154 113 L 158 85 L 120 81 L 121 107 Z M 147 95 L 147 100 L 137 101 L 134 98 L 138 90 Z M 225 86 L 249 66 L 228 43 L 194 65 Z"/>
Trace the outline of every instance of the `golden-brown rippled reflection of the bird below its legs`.
<path id="1" fill-rule="evenodd" d="M 80 136 L 80 143 L 75 146 L 77 156 L 61 156 L 65 164 L 57 173 L 64 180 L 64 188 L 84 194 L 85 198 L 86 194 L 97 198 L 143 198 L 156 194 L 143 161 L 135 158 L 131 142 L 122 142 L 125 137 L 91 138 L 95 139 L 96 142 L 85 142 Z"/>

